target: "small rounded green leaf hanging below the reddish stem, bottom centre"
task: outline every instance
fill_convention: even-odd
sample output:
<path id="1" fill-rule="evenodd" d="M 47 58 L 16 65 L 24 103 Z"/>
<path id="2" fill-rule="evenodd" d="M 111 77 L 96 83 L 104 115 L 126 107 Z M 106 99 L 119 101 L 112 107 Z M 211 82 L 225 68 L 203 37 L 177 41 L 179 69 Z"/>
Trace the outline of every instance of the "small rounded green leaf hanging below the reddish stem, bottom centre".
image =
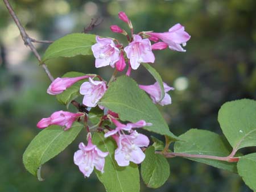
<path id="1" fill-rule="evenodd" d="M 142 179 L 148 187 L 158 188 L 170 176 L 170 166 L 166 158 L 160 154 L 155 154 L 153 146 L 148 147 L 145 154 L 146 158 L 141 164 Z"/>

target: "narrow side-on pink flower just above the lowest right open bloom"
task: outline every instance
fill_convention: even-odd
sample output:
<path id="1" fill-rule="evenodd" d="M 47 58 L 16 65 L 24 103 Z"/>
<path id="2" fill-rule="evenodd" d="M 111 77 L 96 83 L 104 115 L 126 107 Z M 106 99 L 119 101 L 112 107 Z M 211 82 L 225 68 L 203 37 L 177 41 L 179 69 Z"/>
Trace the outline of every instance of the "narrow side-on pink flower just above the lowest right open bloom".
<path id="1" fill-rule="evenodd" d="M 127 123 L 127 124 L 122 124 L 118 122 L 118 120 L 111 118 L 112 122 L 117 126 L 114 130 L 109 131 L 105 133 L 104 137 L 109 137 L 111 135 L 114 135 L 115 133 L 120 133 L 121 130 L 124 131 L 131 131 L 132 128 L 140 128 L 140 127 L 145 127 L 145 126 L 152 126 L 152 123 L 146 123 L 144 120 L 139 120 L 136 123 Z"/>

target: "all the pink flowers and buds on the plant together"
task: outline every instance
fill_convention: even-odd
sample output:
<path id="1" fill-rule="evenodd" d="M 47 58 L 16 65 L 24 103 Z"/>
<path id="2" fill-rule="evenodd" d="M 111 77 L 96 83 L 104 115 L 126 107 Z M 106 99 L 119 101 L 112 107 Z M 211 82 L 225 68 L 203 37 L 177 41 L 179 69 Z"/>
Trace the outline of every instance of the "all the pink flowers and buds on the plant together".
<path id="1" fill-rule="evenodd" d="M 130 76 L 131 69 L 138 69 L 142 62 L 155 62 L 153 50 L 162 50 L 169 47 L 175 51 L 185 52 L 183 47 L 190 39 L 190 36 L 185 32 L 181 24 L 175 24 L 168 32 L 157 33 L 150 31 L 134 34 L 133 25 L 127 15 L 124 12 L 119 12 L 118 16 L 119 19 L 128 24 L 131 36 L 119 26 L 114 25 L 110 29 L 115 33 L 125 35 L 129 43 L 124 47 L 116 39 L 96 36 L 97 43 L 92 45 L 92 52 L 96 58 L 96 68 L 110 65 L 117 71 L 122 72 L 126 68 L 127 63 L 128 69 L 126 75 Z M 154 44 L 151 44 L 151 41 Z M 79 89 L 79 93 L 84 95 L 82 106 L 88 107 L 89 110 L 90 107 L 96 107 L 98 105 L 98 101 L 100 101 L 108 89 L 108 85 L 106 85 L 106 82 L 100 76 L 58 77 L 49 85 L 47 93 L 51 95 L 61 94 L 73 84 L 82 80 L 84 82 Z M 163 86 L 164 97 L 162 97 L 158 82 L 155 82 L 153 85 L 139 85 L 139 88 L 150 95 L 153 103 L 159 103 L 159 105 L 163 106 L 171 104 L 171 97 L 167 92 L 174 90 L 173 87 L 168 86 L 166 83 L 163 83 Z M 102 110 L 104 109 L 102 106 L 99 107 Z M 138 133 L 134 128 L 152 126 L 152 124 L 146 123 L 144 120 L 139 120 L 136 123 L 123 124 L 117 120 L 118 114 L 107 108 L 104 109 L 104 114 L 101 117 L 98 127 L 101 127 L 101 123 L 105 120 L 110 120 L 115 125 L 114 129 L 105 127 L 107 130 L 104 130 L 104 137 L 111 137 L 117 144 L 117 149 L 114 152 L 114 159 L 117 164 L 119 166 L 128 166 L 130 162 L 140 164 L 145 158 L 141 148 L 148 147 L 150 141 L 146 135 Z M 56 111 L 48 118 L 41 119 L 37 127 L 46 128 L 51 125 L 58 125 L 64 127 L 64 130 L 68 130 L 76 120 L 84 119 L 86 122 L 86 115 L 86 112 L 72 113 L 68 111 Z M 89 127 L 87 131 L 88 144 L 80 143 L 79 150 L 74 155 L 74 162 L 79 166 L 80 171 L 85 177 L 90 176 L 94 167 L 101 173 L 104 173 L 105 157 L 109 155 L 109 152 L 102 152 L 92 143 L 92 133 Z"/>

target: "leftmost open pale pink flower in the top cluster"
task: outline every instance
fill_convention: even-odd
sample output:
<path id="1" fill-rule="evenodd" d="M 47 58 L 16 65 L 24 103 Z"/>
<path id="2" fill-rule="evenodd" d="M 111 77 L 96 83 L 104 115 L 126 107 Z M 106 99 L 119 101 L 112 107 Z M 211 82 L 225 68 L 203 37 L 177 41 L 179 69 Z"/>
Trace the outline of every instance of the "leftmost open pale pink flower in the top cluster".
<path id="1" fill-rule="evenodd" d="M 97 43 L 92 45 L 93 55 L 96 58 L 96 68 L 110 65 L 114 68 L 115 62 L 119 60 L 119 49 L 112 39 L 96 36 Z"/>

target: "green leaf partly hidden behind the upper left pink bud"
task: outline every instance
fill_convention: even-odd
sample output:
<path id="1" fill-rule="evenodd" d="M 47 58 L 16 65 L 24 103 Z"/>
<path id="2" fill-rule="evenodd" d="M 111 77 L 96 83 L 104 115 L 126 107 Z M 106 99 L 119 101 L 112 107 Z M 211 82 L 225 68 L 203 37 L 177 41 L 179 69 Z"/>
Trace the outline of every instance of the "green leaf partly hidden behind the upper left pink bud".
<path id="1" fill-rule="evenodd" d="M 94 74 L 68 72 L 68 73 L 65 73 L 62 77 L 80 77 L 80 76 L 86 76 L 86 75 L 94 75 Z M 68 89 L 63 91 L 63 93 L 56 95 L 57 101 L 59 101 L 63 105 L 67 105 L 67 108 L 68 108 L 69 103 L 81 95 L 79 93 L 80 86 L 85 81 L 88 81 L 88 79 L 77 81 L 75 84 L 73 84 L 72 86 L 68 87 Z"/>

